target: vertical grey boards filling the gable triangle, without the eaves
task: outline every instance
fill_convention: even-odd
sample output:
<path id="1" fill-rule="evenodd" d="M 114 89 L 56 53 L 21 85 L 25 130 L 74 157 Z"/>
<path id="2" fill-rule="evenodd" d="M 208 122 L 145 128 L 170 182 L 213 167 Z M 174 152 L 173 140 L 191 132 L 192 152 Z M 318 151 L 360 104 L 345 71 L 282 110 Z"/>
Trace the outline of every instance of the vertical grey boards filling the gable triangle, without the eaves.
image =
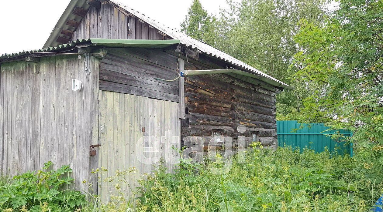
<path id="1" fill-rule="evenodd" d="M 129 31 L 130 29 L 130 31 Z M 101 0 L 101 8 L 91 6 L 87 15 L 74 31 L 72 40 L 82 38 L 110 39 L 152 39 L 162 40 L 164 36 L 158 30 L 142 23 L 133 16 L 127 16 L 116 7 Z"/>

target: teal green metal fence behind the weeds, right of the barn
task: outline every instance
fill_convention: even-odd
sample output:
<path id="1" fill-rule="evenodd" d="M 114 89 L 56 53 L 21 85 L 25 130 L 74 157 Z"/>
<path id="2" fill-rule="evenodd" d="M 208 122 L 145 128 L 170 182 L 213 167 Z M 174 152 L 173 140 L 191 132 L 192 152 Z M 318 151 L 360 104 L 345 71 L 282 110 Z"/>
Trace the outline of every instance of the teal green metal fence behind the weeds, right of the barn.
<path id="1" fill-rule="evenodd" d="M 302 127 L 303 126 L 303 127 Z M 302 127 L 302 128 L 301 128 Z M 294 130 L 298 129 L 298 130 Z M 332 140 L 326 134 L 335 134 L 336 131 L 326 131 L 328 127 L 323 123 L 298 123 L 297 121 L 277 121 L 278 145 L 299 147 L 301 150 L 304 147 L 314 149 L 316 152 L 323 152 L 327 146 L 329 151 L 337 151 L 339 154 L 352 155 L 352 147 L 345 142 L 337 142 Z M 323 132 L 323 133 L 322 133 Z M 345 136 L 350 136 L 351 133 L 345 130 L 339 130 Z"/>

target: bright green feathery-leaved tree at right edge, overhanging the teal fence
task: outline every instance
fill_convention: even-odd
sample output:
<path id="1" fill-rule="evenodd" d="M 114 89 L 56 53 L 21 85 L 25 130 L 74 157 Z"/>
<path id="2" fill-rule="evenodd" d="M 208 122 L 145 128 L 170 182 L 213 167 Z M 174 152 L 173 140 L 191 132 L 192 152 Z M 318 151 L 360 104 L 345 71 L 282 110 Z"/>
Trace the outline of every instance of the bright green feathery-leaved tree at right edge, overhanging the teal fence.
<path id="1" fill-rule="evenodd" d="M 302 20 L 295 79 L 316 84 L 304 100 L 309 121 L 349 129 L 363 172 L 383 180 L 383 1 L 341 0 L 324 24 Z M 334 137 L 342 137 L 336 135 Z"/>

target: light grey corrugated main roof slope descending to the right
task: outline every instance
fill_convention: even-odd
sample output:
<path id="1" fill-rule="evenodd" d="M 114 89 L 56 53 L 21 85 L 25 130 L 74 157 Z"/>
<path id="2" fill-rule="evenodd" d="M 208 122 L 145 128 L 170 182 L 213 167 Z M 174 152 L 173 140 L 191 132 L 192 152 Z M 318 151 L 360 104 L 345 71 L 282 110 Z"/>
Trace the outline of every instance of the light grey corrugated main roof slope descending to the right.
<path id="1" fill-rule="evenodd" d="M 142 21 L 145 21 L 146 23 L 153 26 L 154 28 L 159 29 L 160 31 L 167 34 L 169 37 L 171 37 L 173 39 L 180 40 L 181 44 L 186 45 L 187 47 L 190 47 L 190 48 L 196 49 L 196 50 L 200 50 L 201 52 L 203 52 L 207 55 L 211 55 L 211 56 L 216 57 L 220 60 L 226 61 L 227 63 L 230 63 L 234 66 L 238 66 L 244 70 L 251 71 L 251 72 L 253 72 L 259 76 L 262 76 L 262 77 L 268 79 L 268 80 L 265 80 L 267 83 L 270 83 L 272 81 L 275 82 L 275 83 L 270 83 L 270 84 L 273 84 L 274 86 L 293 89 L 293 87 L 289 86 L 288 84 L 285 84 L 282 81 L 279 81 L 278 79 L 275 79 L 275 78 L 263 73 L 262 71 L 259 71 L 256 68 L 253 68 L 252 66 L 249 66 L 240 60 L 237 60 L 234 57 L 231 57 L 230 55 L 212 47 L 211 45 L 208 45 L 204 42 L 193 39 L 190 36 L 187 36 L 186 34 L 183 34 L 181 32 L 178 32 L 175 29 L 171 29 L 171 28 L 165 26 L 164 24 L 160 24 L 159 22 L 155 21 L 154 19 L 151 19 L 151 18 L 147 17 L 146 15 L 141 14 L 138 11 L 135 11 L 132 8 L 129 8 L 128 6 L 126 6 L 120 2 L 117 2 L 115 0 L 107 0 L 107 1 L 116 5 L 116 6 L 119 6 L 121 9 L 125 10 L 127 13 L 133 14 L 134 16 L 141 19 Z"/>

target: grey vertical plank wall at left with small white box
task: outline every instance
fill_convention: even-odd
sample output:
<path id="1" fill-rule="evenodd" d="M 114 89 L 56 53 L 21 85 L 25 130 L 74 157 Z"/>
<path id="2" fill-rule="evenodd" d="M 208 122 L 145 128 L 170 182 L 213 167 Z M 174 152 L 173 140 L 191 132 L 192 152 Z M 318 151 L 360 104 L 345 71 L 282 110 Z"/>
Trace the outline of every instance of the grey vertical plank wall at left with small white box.
<path id="1" fill-rule="evenodd" d="M 38 170 L 47 161 L 69 164 L 76 186 L 90 173 L 89 146 L 98 141 L 99 60 L 91 57 L 91 74 L 76 56 L 43 57 L 38 63 L 1 64 L 0 145 L 2 169 L 15 175 Z M 82 81 L 72 91 L 72 79 Z M 0 146 L 1 147 L 1 146 Z"/>

